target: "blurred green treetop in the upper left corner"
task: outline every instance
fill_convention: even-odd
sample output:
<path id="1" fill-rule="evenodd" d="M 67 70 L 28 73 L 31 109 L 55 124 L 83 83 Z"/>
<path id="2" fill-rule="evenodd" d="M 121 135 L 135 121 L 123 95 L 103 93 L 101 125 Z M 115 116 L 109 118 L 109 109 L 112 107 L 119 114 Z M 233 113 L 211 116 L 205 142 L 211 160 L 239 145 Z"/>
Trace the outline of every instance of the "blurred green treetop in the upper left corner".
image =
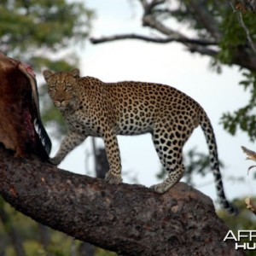
<path id="1" fill-rule="evenodd" d="M 84 41 L 90 31 L 91 17 L 92 12 L 79 2 L 2 1 L 0 50 L 23 61 L 32 60 L 34 68 L 39 70 L 49 64 L 49 55 L 57 56 L 56 51 L 59 54 Z M 76 60 L 71 56 L 66 62 Z"/>

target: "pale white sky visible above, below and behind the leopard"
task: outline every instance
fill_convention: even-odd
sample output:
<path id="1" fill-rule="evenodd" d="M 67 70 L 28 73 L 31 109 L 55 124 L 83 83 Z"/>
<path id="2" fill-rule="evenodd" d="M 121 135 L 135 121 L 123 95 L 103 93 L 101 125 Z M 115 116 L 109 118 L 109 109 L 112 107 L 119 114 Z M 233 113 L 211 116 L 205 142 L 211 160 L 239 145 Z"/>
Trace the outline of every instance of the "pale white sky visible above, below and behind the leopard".
<path id="1" fill-rule="evenodd" d="M 96 9 L 96 20 L 93 22 L 94 37 L 125 32 L 146 32 L 141 27 L 141 9 L 137 1 L 127 0 L 87 0 L 87 6 Z M 183 26 L 177 25 L 177 29 Z M 207 111 L 218 143 L 219 158 L 224 161 L 221 170 L 224 178 L 224 189 L 229 199 L 255 195 L 253 170 L 247 175 L 248 166 L 241 145 L 256 149 L 246 134 L 237 132 L 236 137 L 230 136 L 219 125 L 223 113 L 233 112 L 244 106 L 248 94 L 238 85 L 241 73 L 237 67 L 224 67 L 222 74 L 214 73 L 209 68 L 209 58 L 191 55 L 181 44 L 149 44 L 140 41 L 119 41 L 108 44 L 93 45 L 87 42 L 80 50 L 80 71 L 82 76 L 94 76 L 104 82 L 121 80 L 138 80 L 169 84 L 193 97 Z M 151 135 L 137 137 L 119 137 L 119 148 L 123 166 L 125 183 L 137 182 L 150 186 L 160 181 L 156 173 L 160 172 L 160 161 L 154 151 Z M 97 139 L 97 143 L 102 143 Z M 59 166 L 62 169 L 94 175 L 93 159 L 90 154 L 91 141 L 87 139 L 79 148 L 67 155 Z M 54 142 L 53 154 L 59 147 Z M 201 128 L 197 128 L 183 152 L 197 147 L 208 154 L 206 139 Z M 84 152 L 87 153 L 85 158 Z M 244 183 L 230 180 L 230 177 L 243 177 Z M 212 173 L 207 177 L 195 176 L 195 188 L 216 200 L 216 190 Z M 205 185 L 204 185 L 205 184 Z"/>

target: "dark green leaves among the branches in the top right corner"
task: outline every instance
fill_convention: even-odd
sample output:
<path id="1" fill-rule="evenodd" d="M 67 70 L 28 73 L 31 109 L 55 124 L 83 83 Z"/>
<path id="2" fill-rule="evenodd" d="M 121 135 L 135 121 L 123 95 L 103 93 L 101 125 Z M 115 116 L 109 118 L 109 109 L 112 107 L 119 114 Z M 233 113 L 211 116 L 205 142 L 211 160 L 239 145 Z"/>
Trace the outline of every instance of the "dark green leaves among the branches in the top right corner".
<path id="1" fill-rule="evenodd" d="M 232 1 L 231 1 L 232 2 Z M 198 38 L 212 39 L 211 29 L 203 24 L 204 18 L 198 15 L 193 8 L 191 1 L 178 1 L 179 6 L 172 16 L 179 22 L 183 22 L 198 35 Z M 217 1 L 202 1 L 201 9 L 203 15 L 207 17 L 208 22 L 211 19 L 215 22 L 216 30 L 219 32 L 218 38 L 218 55 L 213 56 L 215 61 L 212 63 L 233 64 L 236 62 L 236 55 L 241 48 L 249 49 L 247 44 L 247 34 L 241 26 L 241 20 L 238 18 L 238 12 L 234 12 L 228 1 L 219 4 Z M 202 20 L 201 20 L 202 19 Z M 255 15 L 247 12 L 242 14 L 242 20 L 253 40 L 256 39 Z"/>

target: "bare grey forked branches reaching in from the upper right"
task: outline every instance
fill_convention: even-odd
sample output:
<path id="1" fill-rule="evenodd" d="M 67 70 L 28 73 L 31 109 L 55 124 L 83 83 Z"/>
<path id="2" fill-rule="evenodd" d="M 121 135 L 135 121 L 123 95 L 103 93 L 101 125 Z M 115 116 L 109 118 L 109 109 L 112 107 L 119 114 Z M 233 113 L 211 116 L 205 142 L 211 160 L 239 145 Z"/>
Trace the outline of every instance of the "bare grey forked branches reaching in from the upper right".
<path id="1" fill-rule="evenodd" d="M 211 15 L 211 13 L 207 9 L 206 1 L 190 1 L 187 4 L 185 12 L 188 16 L 192 15 L 193 19 L 197 20 L 198 23 L 205 29 L 205 34 L 201 38 L 189 38 L 185 34 L 173 30 L 172 27 L 166 26 L 163 20 L 160 20 L 160 10 L 164 10 L 166 12 L 166 8 L 164 6 L 167 1 L 165 0 L 138 0 L 142 4 L 143 8 L 143 26 L 148 26 L 154 29 L 157 32 L 160 32 L 166 38 L 152 38 L 147 35 L 138 35 L 136 33 L 129 34 L 121 34 L 121 35 L 113 35 L 109 37 L 102 38 L 90 38 L 90 42 L 92 44 L 100 44 L 106 42 L 113 42 L 115 40 L 122 39 L 139 39 L 146 42 L 152 42 L 156 44 L 167 44 L 172 42 L 177 42 L 185 45 L 185 47 L 192 53 L 199 53 L 201 55 L 208 55 L 210 57 L 216 58 L 219 53 L 219 41 L 221 40 L 221 32 L 218 28 L 217 20 Z M 230 2 L 230 1 L 228 1 Z M 246 6 L 250 8 L 254 8 L 256 6 L 256 2 L 253 1 L 245 1 Z M 216 5 L 221 4 L 220 2 L 214 3 Z M 250 5 L 248 5 L 250 4 Z M 170 9 L 172 14 L 172 10 Z M 177 12 L 177 11 L 176 11 Z M 175 12 L 174 12 L 175 13 Z M 241 15 L 241 14 L 240 14 Z M 172 15 L 170 15 L 172 16 Z M 245 29 L 245 26 L 243 26 Z M 246 30 L 246 29 L 245 29 Z M 256 70 L 256 58 L 253 55 L 253 51 L 255 45 L 251 40 L 250 34 L 247 32 L 247 38 L 249 44 L 243 45 L 238 48 L 234 53 L 233 59 L 226 63 L 228 65 L 238 65 L 240 67 L 245 67 L 249 70 Z M 207 37 L 206 37 L 207 35 Z M 217 46 L 215 48 L 209 46 Z M 252 48 L 249 49 L 249 47 Z"/>

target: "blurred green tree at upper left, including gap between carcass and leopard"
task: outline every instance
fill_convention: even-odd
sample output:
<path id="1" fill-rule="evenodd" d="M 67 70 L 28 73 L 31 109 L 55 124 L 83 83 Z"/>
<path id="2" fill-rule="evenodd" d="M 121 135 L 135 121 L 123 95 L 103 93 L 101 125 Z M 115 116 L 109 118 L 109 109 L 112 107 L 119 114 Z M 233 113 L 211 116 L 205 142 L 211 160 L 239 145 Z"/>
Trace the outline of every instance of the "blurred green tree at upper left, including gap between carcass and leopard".
<path id="1" fill-rule="evenodd" d="M 0 51 L 30 63 L 36 72 L 70 70 L 78 65 L 76 48 L 88 37 L 92 17 L 82 1 L 4 0 Z M 65 133 L 61 114 L 51 104 L 45 85 L 39 94 L 43 120 L 58 137 Z"/>

